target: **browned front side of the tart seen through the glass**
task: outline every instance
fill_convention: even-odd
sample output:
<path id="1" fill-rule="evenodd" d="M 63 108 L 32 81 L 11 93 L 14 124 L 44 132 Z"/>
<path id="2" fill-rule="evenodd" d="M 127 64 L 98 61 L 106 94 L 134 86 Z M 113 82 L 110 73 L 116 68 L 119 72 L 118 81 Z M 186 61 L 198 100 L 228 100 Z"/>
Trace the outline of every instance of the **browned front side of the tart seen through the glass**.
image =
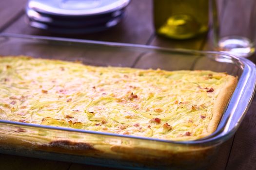
<path id="1" fill-rule="evenodd" d="M 1 147 L 26 148 L 31 151 L 73 154 L 98 158 L 111 158 L 143 163 L 149 166 L 186 166 L 193 161 L 207 161 L 217 150 L 215 147 L 183 148 L 179 146 L 159 146 L 156 144 L 113 144 L 97 141 L 76 142 L 68 139 L 50 139 L 38 136 L 16 136 L 18 134 L 1 134 Z M 14 137 L 16 136 L 16 137 Z M 138 145 L 138 146 L 137 146 Z M 160 148 L 158 148 L 160 147 Z M 157 164 L 156 164 L 157 162 Z"/>

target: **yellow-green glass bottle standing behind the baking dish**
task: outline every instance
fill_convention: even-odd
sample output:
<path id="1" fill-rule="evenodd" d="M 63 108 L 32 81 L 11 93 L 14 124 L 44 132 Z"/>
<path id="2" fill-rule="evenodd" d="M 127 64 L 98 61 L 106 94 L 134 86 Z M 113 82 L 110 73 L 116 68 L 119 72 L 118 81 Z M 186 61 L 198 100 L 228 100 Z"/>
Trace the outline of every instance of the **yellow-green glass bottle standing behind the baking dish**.
<path id="1" fill-rule="evenodd" d="M 157 34 L 173 39 L 188 39 L 207 32 L 208 0 L 154 0 Z"/>

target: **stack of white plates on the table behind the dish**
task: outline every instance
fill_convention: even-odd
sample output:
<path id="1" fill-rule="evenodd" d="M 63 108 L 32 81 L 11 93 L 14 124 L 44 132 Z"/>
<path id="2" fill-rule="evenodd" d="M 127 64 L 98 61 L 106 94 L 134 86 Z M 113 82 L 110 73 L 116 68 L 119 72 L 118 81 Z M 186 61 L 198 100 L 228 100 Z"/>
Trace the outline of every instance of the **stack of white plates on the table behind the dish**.
<path id="1" fill-rule="evenodd" d="M 59 34 L 86 34 L 118 24 L 130 0 L 28 0 L 29 24 Z"/>

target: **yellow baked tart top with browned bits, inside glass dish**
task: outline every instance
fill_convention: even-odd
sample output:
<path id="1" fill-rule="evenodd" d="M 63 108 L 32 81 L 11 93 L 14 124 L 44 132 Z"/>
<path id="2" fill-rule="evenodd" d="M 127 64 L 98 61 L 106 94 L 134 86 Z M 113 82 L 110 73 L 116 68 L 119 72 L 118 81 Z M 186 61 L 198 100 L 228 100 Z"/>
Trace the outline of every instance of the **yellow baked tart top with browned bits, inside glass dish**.
<path id="1" fill-rule="evenodd" d="M 94 67 L 26 56 L 1 57 L 0 81 L 0 119 L 167 140 L 213 133 L 237 84 L 234 76 L 208 70 Z"/>

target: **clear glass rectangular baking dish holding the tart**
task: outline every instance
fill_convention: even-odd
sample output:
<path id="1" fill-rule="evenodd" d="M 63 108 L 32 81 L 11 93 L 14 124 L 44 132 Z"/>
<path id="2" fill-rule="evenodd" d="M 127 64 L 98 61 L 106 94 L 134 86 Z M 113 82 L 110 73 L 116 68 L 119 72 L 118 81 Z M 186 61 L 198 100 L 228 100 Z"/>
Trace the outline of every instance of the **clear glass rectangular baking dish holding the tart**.
<path id="1" fill-rule="evenodd" d="M 219 52 L 19 34 L 0 34 L 0 55 L 81 61 L 87 65 L 213 70 L 238 77 L 215 133 L 170 141 L 0 120 L 0 153 L 127 169 L 205 169 L 234 135 L 252 101 L 255 65 Z"/>

